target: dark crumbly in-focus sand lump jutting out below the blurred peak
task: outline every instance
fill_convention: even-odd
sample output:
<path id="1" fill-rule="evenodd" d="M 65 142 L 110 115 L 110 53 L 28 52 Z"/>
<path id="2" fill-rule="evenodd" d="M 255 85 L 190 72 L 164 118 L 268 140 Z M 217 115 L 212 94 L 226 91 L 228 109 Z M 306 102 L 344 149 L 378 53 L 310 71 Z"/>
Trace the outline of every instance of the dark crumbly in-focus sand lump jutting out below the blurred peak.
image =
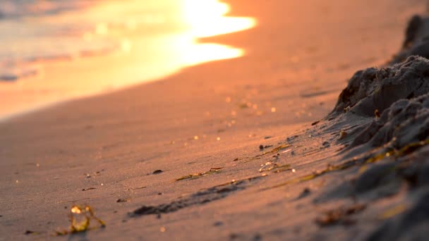
<path id="1" fill-rule="evenodd" d="M 429 92 L 429 61 L 410 56 L 387 68 L 367 68 L 354 74 L 339 95 L 330 116 L 351 111 L 359 116 L 382 113 L 399 99 L 411 99 Z"/>

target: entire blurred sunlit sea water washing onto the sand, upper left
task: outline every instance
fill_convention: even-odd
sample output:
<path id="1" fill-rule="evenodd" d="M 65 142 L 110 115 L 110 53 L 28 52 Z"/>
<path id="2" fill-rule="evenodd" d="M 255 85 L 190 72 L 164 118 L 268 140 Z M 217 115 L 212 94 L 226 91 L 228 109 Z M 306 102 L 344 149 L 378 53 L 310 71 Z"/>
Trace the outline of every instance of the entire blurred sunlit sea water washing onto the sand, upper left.
<path id="1" fill-rule="evenodd" d="M 217 0 L 0 1 L 0 118 L 246 54 L 210 37 L 247 30 Z"/>

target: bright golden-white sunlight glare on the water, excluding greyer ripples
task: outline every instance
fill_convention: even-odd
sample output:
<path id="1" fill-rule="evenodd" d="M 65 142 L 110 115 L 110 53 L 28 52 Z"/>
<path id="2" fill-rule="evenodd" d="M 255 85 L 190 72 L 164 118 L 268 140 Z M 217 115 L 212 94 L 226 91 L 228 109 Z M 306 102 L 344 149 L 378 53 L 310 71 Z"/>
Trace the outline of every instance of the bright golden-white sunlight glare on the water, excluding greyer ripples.
<path id="1" fill-rule="evenodd" d="M 93 27 L 61 35 L 76 35 L 92 45 L 113 43 L 114 47 L 104 52 L 71 53 L 68 60 L 37 61 L 32 63 L 37 75 L 0 82 L 0 96 L 6 100 L 0 103 L 0 116 L 157 80 L 198 63 L 243 56 L 243 49 L 198 43 L 200 37 L 246 30 L 256 24 L 254 18 L 225 16 L 228 12 L 229 5 L 217 0 L 130 0 L 30 19 L 32 27 L 79 20 Z M 19 47 L 22 39 L 18 40 Z"/>

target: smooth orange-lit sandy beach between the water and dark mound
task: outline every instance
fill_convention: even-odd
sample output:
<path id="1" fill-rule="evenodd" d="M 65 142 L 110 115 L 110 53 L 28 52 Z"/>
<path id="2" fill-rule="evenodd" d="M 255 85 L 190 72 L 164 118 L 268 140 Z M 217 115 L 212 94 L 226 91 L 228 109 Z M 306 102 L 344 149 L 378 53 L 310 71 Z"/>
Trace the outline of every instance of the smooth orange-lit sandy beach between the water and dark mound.
<path id="1" fill-rule="evenodd" d="M 427 109 L 418 99 L 424 93 L 404 90 L 397 99 L 409 102 L 397 107 L 359 102 L 377 99 L 368 93 L 382 84 L 365 85 L 372 88 L 365 97 L 356 90 L 339 98 L 356 88 L 352 77 L 367 80 L 356 71 L 375 67 L 365 73 L 380 77 L 426 2 L 227 3 L 230 16 L 252 16 L 258 25 L 200 41 L 240 47 L 245 56 L 1 121 L 0 240 L 405 240 L 385 234 L 395 227 L 427 233 L 429 209 L 420 203 L 427 187 L 418 179 L 411 192 L 406 178 L 380 174 L 392 169 L 380 158 L 387 153 L 424 163 L 425 125 L 404 125 L 417 134 L 397 146 L 391 135 L 371 139 L 394 123 L 395 110 Z M 425 87 L 422 59 L 387 69 L 380 82 L 414 71 Z M 380 128 L 359 134 L 371 123 Z M 409 152 L 410 144 L 419 152 Z M 56 235 L 69 228 L 75 204 L 90 205 L 106 226 Z M 416 210 L 421 220 L 400 223 Z"/>

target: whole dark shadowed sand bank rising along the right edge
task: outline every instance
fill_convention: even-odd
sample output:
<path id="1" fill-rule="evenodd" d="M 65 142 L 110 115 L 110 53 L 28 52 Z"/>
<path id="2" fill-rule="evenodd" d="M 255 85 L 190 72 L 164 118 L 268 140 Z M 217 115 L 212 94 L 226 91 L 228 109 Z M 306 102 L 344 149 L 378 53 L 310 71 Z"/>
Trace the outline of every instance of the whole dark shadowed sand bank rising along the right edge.
<path id="1" fill-rule="evenodd" d="M 429 21 L 413 17 L 392 65 L 358 71 L 320 125 L 333 134 L 348 130 L 337 141 L 346 147 L 339 152 L 340 165 L 357 168 L 342 175 L 348 182 L 325 190 L 314 201 L 353 197 L 370 207 L 382 201 L 384 221 L 365 235 L 368 240 L 423 240 L 427 233 L 429 60 L 424 57 L 429 57 L 428 32 Z"/>

